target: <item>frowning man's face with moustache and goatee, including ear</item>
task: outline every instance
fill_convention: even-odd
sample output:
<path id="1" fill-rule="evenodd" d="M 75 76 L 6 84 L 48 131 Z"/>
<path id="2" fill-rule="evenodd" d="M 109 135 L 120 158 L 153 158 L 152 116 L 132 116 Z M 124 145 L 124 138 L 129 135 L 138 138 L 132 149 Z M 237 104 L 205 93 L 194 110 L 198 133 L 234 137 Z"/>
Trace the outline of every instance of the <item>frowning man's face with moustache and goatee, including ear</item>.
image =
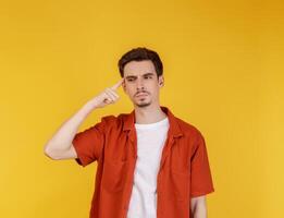
<path id="1" fill-rule="evenodd" d="M 162 86 L 163 76 L 157 77 L 152 61 L 131 61 L 125 64 L 123 89 L 135 106 L 159 104 L 159 90 Z"/>

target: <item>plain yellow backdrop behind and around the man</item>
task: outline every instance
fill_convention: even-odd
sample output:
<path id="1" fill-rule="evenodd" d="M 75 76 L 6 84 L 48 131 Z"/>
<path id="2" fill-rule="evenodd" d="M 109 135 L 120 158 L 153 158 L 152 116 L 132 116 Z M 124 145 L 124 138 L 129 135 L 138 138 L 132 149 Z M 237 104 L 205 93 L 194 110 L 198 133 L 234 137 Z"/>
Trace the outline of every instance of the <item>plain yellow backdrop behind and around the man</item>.
<path id="1" fill-rule="evenodd" d="M 281 0 L 1 1 L 0 216 L 88 217 L 97 164 L 51 160 L 44 145 L 146 46 L 164 63 L 161 105 L 206 137 L 209 217 L 284 217 L 283 11 Z M 129 112 L 119 94 L 79 130 Z"/>

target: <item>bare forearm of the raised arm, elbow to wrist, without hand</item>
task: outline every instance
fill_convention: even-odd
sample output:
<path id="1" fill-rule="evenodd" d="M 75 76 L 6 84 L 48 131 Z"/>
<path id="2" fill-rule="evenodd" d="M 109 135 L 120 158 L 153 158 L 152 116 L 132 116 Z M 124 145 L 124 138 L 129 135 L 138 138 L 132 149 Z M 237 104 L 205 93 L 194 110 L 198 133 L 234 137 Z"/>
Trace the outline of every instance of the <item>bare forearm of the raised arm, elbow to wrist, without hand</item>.
<path id="1" fill-rule="evenodd" d="M 70 149 L 72 141 L 77 133 L 79 125 L 87 116 L 96 108 L 96 102 L 86 102 L 73 117 L 66 120 L 54 135 L 45 145 L 45 150 L 66 150 Z"/>

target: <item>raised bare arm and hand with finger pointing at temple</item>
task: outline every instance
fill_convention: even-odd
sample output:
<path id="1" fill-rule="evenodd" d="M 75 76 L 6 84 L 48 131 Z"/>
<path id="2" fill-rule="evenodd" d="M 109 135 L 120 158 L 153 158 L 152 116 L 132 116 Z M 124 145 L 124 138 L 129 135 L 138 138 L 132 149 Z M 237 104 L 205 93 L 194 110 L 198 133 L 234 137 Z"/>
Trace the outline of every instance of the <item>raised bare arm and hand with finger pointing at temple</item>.
<path id="1" fill-rule="evenodd" d="M 94 109 L 102 108 L 119 99 L 119 95 L 114 90 L 122 84 L 122 82 L 123 80 L 111 88 L 106 88 L 104 92 L 89 100 L 72 118 L 65 121 L 45 145 L 45 155 L 55 160 L 77 158 L 76 150 L 72 144 L 77 129 Z"/>

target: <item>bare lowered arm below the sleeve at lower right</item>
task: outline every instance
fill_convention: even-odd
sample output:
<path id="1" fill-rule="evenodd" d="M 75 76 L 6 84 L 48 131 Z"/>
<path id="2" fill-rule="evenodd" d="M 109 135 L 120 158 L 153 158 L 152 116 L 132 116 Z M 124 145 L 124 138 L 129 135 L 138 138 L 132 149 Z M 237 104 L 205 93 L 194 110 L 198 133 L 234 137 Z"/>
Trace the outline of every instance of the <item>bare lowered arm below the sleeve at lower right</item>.
<path id="1" fill-rule="evenodd" d="M 193 197 L 190 199 L 190 217 L 207 218 L 206 195 Z"/>

